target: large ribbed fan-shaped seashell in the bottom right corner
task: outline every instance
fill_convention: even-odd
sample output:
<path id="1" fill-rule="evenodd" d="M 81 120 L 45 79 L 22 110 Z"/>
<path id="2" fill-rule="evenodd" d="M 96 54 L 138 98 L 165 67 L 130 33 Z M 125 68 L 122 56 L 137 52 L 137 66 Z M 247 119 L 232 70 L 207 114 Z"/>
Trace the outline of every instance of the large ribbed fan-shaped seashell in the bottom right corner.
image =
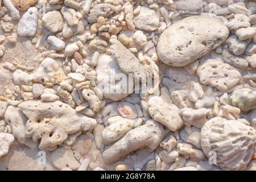
<path id="1" fill-rule="evenodd" d="M 243 170 L 253 158 L 256 131 L 240 121 L 210 119 L 200 135 L 204 154 L 224 170 Z"/>

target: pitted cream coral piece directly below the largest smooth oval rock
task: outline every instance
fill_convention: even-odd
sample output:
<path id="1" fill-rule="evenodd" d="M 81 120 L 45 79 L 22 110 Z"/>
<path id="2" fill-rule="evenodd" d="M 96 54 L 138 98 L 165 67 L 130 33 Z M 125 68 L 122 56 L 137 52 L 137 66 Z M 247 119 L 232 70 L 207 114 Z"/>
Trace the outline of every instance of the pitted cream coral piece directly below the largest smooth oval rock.
<path id="1" fill-rule="evenodd" d="M 200 65 L 196 73 L 200 78 L 201 84 L 216 87 L 221 91 L 237 85 L 241 78 L 240 72 L 229 64 L 213 59 L 209 59 Z"/>

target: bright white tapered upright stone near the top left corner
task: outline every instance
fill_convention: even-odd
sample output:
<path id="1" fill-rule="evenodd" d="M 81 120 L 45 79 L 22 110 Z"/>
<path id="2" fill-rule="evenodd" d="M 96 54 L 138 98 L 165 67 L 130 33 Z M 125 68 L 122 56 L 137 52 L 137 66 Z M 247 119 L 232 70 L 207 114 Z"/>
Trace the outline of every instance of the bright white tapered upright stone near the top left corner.
<path id="1" fill-rule="evenodd" d="M 37 21 L 38 9 L 36 9 L 36 7 L 30 7 L 19 20 L 17 30 L 19 36 L 34 36 L 36 33 Z"/>

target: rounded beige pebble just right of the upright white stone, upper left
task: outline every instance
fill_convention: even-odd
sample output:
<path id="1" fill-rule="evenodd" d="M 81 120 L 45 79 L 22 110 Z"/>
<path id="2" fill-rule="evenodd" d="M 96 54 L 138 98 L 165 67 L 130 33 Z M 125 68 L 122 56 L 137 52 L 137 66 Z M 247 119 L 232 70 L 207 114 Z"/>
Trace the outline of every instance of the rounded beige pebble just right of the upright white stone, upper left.
<path id="1" fill-rule="evenodd" d="M 49 11 L 47 14 L 43 15 L 42 22 L 49 31 L 55 33 L 63 29 L 64 23 L 63 18 L 59 11 Z"/>

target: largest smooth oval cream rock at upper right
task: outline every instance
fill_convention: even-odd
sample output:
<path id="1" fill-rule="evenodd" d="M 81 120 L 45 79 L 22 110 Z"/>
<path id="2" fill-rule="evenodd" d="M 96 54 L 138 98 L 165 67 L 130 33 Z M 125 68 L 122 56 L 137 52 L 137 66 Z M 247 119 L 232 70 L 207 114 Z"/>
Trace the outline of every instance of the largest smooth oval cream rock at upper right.
<path id="1" fill-rule="evenodd" d="M 183 67 L 228 38 L 229 29 L 211 16 L 191 16 L 168 27 L 158 41 L 158 56 L 163 63 Z"/>

